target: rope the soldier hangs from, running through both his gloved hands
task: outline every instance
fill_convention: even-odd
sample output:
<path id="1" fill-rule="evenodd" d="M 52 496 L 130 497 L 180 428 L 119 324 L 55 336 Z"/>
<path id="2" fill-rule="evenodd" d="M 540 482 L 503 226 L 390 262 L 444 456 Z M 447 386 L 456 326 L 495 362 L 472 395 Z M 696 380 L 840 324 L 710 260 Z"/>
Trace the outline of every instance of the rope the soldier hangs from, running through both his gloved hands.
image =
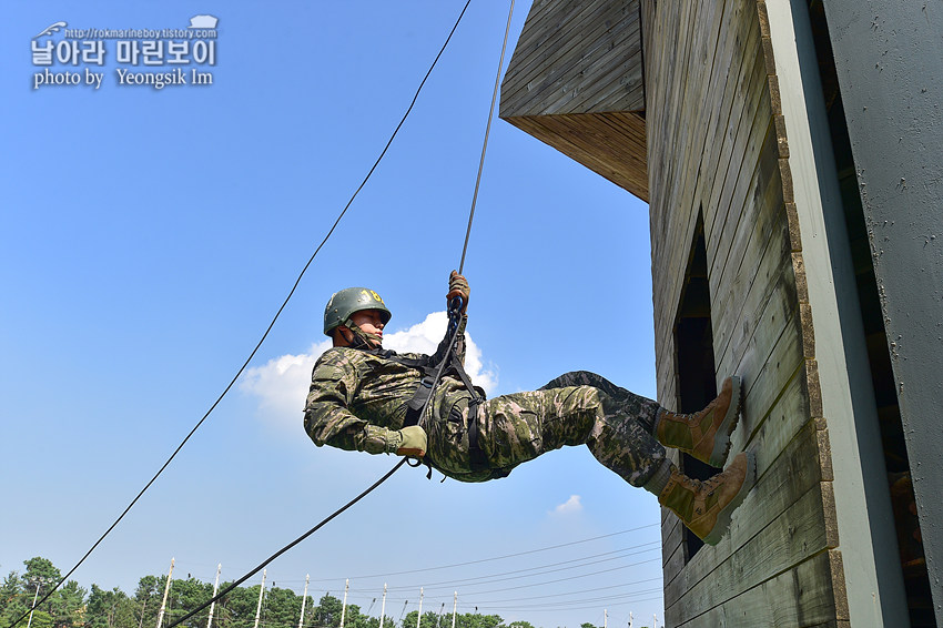
<path id="1" fill-rule="evenodd" d="M 467 3 L 465 4 L 465 8 L 466 9 L 468 8 Z M 465 10 L 463 9 L 462 12 L 464 13 Z M 490 130 L 491 130 L 491 118 L 493 118 L 494 112 L 495 112 L 495 101 L 497 100 L 498 88 L 500 85 L 500 72 L 501 72 L 501 67 L 504 65 L 505 50 L 507 48 L 507 38 L 508 38 L 508 32 L 510 31 L 510 22 L 511 22 L 513 14 L 514 14 L 514 0 L 511 0 L 511 2 L 510 2 L 510 10 L 508 11 L 508 16 L 507 16 L 507 27 L 505 28 L 505 38 L 504 38 L 504 43 L 501 44 L 500 60 L 498 61 L 498 77 L 495 79 L 495 90 L 491 94 L 491 108 L 488 111 L 488 124 L 485 129 L 485 140 L 484 140 L 483 146 L 481 146 L 481 159 L 478 162 L 478 176 L 475 181 L 475 192 L 474 192 L 473 197 L 472 197 L 472 211 L 469 212 L 469 216 L 468 216 L 468 227 L 465 231 L 465 245 L 462 250 L 462 263 L 458 266 L 458 273 L 459 274 L 462 273 L 462 270 L 465 266 L 465 252 L 468 249 L 468 236 L 472 233 L 472 220 L 475 216 L 475 202 L 478 197 L 478 185 L 481 181 L 481 169 L 484 168 L 484 164 L 485 164 L 485 152 L 487 151 L 487 148 L 488 148 L 488 135 L 489 135 Z M 460 19 L 462 19 L 462 17 L 459 16 L 459 20 Z M 456 22 L 456 27 L 457 26 L 458 26 L 458 22 Z M 455 32 L 454 28 L 453 28 L 453 32 Z M 449 33 L 449 38 L 450 37 L 452 37 L 452 34 Z M 448 41 L 446 41 L 446 43 L 448 43 Z M 445 49 L 445 47 L 443 47 L 443 49 Z M 442 54 L 442 53 L 439 53 L 439 54 Z M 398 126 L 397 126 L 397 129 L 398 129 Z M 345 209 L 345 211 L 346 211 L 346 209 Z M 460 316 L 459 311 L 458 311 L 458 304 L 449 306 L 449 315 L 454 316 L 454 317 Z M 438 365 L 438 368 L 436 369 L 436 375 L 435 375 L 435 378 L 433 379 L 432 392 L 429 393 L 429 396 L 426 398 L 425 404 L 423 404 L 423 411 L 419 413 L 420 417 L 426 415 L 426 411 L 428 409 L 429 403 L 433 399 L 433 393 L 435 392 L 435 388 L 438 385 L 439 379 L 442 378 L 442 374 L 445 371 L 446 365 L 449 363 L 449 358 L 452 357 L 452 352 L 455 348 L 455 342 L 456 342 L 456 338 L 458 337 L 457 325 L 450 326 L 450 330 L 452 330 L 452 337 L 449 338 L 448 350 L 446 351 L 444 358 L 442 359 L 442 362 Z M 392 469 L 386 472 L 386 474 L 383 477 L 381 477 L 378 480 L 373 483 L 366 490 L 364 490 L 363 493 L 361 493 L 359 495 L 357 495 L 356 497 L 354 497 L 353 499 L 347 502 L 344 506 L 342 506 L 341 508 L 338 508 L 337 510 L 335 510 L 334 513 L 332 513 L 331 515 L 325 517 L 321 523 L 318 523 L 316 526 L 314 526 L 313 528 L 311 528 L 310 530 L 304 533 L 302 536 L 300 536 L 298 538 L 296 538 L 295 540 L 293 540 L 288 545 L 284 546 L 282 549 L 280 549 L 278 551 L 276 551 L 275 554 L 273 554 L 268 558 L 266 558 L 257 567 L 255 567 L 252 571 L 249 571 L 247 574 L 245 574 L 239 580 L 234 581 L 232 585 L 230 585 L 229 587 L 223 589 L 219 595 L 214 596 L 212 599 L 205 601 L 204 604 L 202 604 L 197 608 L 193 609 L 192 611 L 186 614 L 184 617 L 182 617 L 182 618 L 178 619 L 176 621 L 174 621 L 173 624 L 169 625 L 166 628 L 175 628 L 180 624 L 183 624 L 184 621 L 192 618 L 197 612 L 200 612 L 203 609 L 205 609 L 206 607 L 209 607 L 211 604 L 222 599 L 226 594 L 229 594 L 230 591 L 235 589 L 237 586 L 240 586 L 241 584 L 246 581 L 249 578 L 251 578 L 252 576 L 256 575 L 258 571 L 264 569 L 265 566 L 267 566 L 270 563 L 275 560 L 277 557 L 282 556 L 284 553 L 286 553 L 287 550 L 290 550 L 291 548 L 293 548 L 294 546 L 296 546 L 297 544 L 300 544 L 301 541 L 303 541 L 304 539 L 306 539 L 307 537 L 310 537 L 311 535 L 316 533 L 318 529 L 321 529 L 328 521 L 331 521 L 332 519 L 334 519 L 335 517 L 341 515 L 347 508 L 349 508 L 351 506 L 353 506 L 354 504 L 356 504 L 357 502 L 359 502 L 361 499 L 363 499 L 364 497 L 369 495 L 371 492 L 373 492 L 381 484 L 383 484 L 384 482 L 389 479 L 393 476 L 393 474 L 395 474 L 397 470 L 399 470 L 399 468 L 404 464 L 406 464 L 406 462 L 408 462 L 408 460 L 409 460 L 409 458 L 404 457 L 402 460 L 396 463 L 393 466 Z"/>

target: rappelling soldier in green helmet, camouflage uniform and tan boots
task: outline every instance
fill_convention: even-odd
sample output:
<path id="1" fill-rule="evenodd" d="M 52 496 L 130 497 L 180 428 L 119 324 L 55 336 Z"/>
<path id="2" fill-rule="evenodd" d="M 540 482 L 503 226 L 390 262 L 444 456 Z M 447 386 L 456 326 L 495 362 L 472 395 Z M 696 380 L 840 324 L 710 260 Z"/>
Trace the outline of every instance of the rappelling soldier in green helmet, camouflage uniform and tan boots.
<path id="1" fill-rule="evenodd" d="M 434 391 L 432 373 L 447 357 L 450 334 L 432 356 L 384 351 L 392 314 L 379 295 L 362 287 L 335 293 L 324 312 L 324 333 L 334 346 L 314 365 L 305 404 L 305 429 L 314 444 L 424 458 L 460 482 L 505 477 L 540 454 L 585 444 L 626 482 L 655 494 L 706 543 L 720 540 L 752 485 L 752 455 L 741 453 L 722 473 L 699 482 L 667 459 L 665 446 L 722 466 L 740 413 L 738 377 L 691 415 L 585 371 L 539 391 L 485 401 L 462 368 L 468 293 L 465 277 L 453 271 L 446 301 L 462 303 L 455 348 Z"/>

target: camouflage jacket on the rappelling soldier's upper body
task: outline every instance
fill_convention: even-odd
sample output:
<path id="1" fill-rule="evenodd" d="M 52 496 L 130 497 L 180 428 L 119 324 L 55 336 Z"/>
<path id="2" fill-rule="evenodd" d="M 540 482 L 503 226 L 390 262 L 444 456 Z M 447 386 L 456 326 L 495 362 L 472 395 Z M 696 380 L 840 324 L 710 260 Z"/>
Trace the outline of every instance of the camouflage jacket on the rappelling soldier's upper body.
<path id="1" fill-rule="evenodd" d="M 463 317 L 454 350 L 463 364 L 465 324 Z M 448 336 L 439 343 L 433 361 L 442 359 L 447 350 Z M 393 453 L 398 448 L 406 404 L 413 398 L 423 373 L 391 359 L 395 355 L 392 351 L 349 347 L 332 347 L 322 354 L 314 365 L 304 414 L 305 431 L 315 445 L 371 454 Z M 454 395 L 470 396 L 460 381 L 444 376 L 427 415 L 438 414 L 446 398 Z"/>

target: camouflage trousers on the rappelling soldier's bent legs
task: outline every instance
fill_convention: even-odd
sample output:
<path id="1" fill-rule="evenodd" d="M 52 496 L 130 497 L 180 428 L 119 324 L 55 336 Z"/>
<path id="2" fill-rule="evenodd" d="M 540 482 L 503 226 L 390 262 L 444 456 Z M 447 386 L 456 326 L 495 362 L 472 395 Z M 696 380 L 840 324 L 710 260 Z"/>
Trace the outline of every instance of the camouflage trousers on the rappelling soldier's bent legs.
<path id="1" fill-rule="evenodd" d="M 652 437 L 658 404 L 579 371 L 539 391 L 484 402 L 477 413 L 478 445 L 490 470 L 475 472 L 468 454 L 469 397 L 457 393 L 437 404 L 427 424 L 434 466 L 456 479 L 503 477 L 540 454 L 586 444 L 607 468 L 643 486 L 665 459 L 665 447 Z"/>

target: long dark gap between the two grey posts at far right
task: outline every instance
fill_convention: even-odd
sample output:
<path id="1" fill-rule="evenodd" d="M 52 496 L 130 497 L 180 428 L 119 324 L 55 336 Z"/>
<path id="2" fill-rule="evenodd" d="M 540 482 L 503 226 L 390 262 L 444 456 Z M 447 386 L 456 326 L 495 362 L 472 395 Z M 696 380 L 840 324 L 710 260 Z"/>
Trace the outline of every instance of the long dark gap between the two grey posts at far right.
<path id="1" fill-rule="evenodd" d="M 916 500 L 911 484 L 910 459 L 891 369 L 891 356 L 881 313 L 878 282 L 874 276 L 874 264 L 871 259 L 871 244 L 864 224 L 851 141 L 848 135 L 844 107 L 829 39 L 829 27 L 821 0 L 810 0 L 809 17 L 819 58 L 822 93 L 825 98 L 835 169 L 844 206 L 845 227 L 858 284 L 858 300 L 861 305 L 874 399 L 881 424 L 881 442 L 884 448 L 884 464 L 888 468 L 888 483 L 891 487 L 910 622 L 914 628 L 936 626 L 930 578 L 926 573 L 926 558 L 916 517 Z"/>

